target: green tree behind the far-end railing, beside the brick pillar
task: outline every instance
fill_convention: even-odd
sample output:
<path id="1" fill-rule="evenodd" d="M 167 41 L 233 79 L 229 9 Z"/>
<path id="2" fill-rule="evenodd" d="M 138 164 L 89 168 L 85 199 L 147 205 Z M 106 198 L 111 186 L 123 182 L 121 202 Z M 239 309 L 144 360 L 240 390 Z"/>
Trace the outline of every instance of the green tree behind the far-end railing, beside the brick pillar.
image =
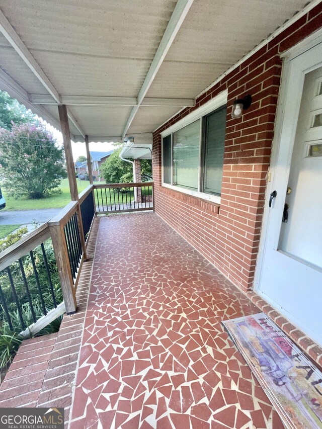
<path id="1" fill-rule="evenodd" d="M 130 162 L 120 158 L 122 147 L 114 152 L 101 164 L 101 172 L 106 183 L 133 182 L 133 166 Z M 133 160 L 133 159 L 129 159 Z M 141 174 L 151 176 L 151 163 L 148 159 L 141 159 Z"/>

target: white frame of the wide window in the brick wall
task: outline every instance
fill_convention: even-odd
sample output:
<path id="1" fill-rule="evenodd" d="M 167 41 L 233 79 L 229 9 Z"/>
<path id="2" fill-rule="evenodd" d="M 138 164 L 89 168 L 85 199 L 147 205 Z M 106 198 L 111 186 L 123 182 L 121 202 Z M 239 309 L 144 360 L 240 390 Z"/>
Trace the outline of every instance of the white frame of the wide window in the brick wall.
<path id="1" fill-rule="evenodd" d="M 206 194 L 201 192 L 203 189 L 204 182 L 204 161 L 205 161 L 205 121 L 204 117 L 213 113 L 220 108 L 223 108 L 227 105 L 228 90 L 223 91 L 214 97 L 212 100 L 208 101 L 198 109 L 194 110 L 189 115 L 185 116 L 180 121 L 176 122 L 171 127 L 167 128 L 161 133 L 161 172 L 162 172 L 162 186 L 165 188 L 170 188 L 184 194 L 191 195 L 193 197 L 202 198 L 203 200 L 208 200 L 214 203 L 220 203 L 221 197 L 218 195 Z M 173 185 L 173 133 L 181 130 L 187 125 L 192 124 L 195 121 L 200 120 L 200 137 L 199 137 L 199 164 L 198 164 L 198 191 L 192 191 L 189 189 L 181 188 L 180 186 Z M 171 184 L 164 182 L 164 152 L 163 152 L 163 139 L 171 135 Z"/>

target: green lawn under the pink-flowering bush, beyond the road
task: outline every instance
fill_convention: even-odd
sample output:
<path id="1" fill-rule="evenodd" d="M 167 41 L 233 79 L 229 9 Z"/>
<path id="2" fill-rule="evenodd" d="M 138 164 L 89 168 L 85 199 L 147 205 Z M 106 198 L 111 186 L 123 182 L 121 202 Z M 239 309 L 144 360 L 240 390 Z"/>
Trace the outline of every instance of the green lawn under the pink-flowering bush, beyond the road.
<path id="1" fill-rule="evenodd" d="M 79 181 L 78 179 L 76 179 L 76 181 L 78 193 L 81 193 L 90 184 L 90 182 L 86 180 Z M 3 189 L 3 194 L 6 198 L 6 208 L 4 210 L 60 209 L 62 207 L 65 207 L 70 202 L 68 179 L 64 179 L 61 181 L 60 189 L 62 191 L 62 194 L 42 198 L 41 200 L 27 200 L 25 198 L 19 198 L 18 200 L 16 200 L 15 198 L 10 197 L 8 195 L 8 192 Z"/>

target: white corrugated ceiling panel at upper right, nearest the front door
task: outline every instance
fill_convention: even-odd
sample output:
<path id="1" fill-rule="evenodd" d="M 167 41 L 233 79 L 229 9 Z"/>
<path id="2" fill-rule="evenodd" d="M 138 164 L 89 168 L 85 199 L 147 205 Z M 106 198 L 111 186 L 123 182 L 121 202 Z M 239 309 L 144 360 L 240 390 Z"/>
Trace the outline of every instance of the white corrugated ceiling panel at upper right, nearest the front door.
<path id="1" fill-rule="evenodd" d="M 166 60 L 234 64 L 306 0 L 194 0 Z"/>

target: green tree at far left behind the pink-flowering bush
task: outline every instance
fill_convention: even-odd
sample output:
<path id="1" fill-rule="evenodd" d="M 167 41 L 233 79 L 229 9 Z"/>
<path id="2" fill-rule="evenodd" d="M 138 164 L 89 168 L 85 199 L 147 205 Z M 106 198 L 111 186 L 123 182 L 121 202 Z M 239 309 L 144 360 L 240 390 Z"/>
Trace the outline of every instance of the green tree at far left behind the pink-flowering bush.
<path id="1" fill-rule="evenodd" d="M 5 91 L 0 91 L 0 127 L 11 130 L 13 122 L 23 124 L 35 122 L 35 115 L 27 110 L 25 106 L 12 99 Z"/>

